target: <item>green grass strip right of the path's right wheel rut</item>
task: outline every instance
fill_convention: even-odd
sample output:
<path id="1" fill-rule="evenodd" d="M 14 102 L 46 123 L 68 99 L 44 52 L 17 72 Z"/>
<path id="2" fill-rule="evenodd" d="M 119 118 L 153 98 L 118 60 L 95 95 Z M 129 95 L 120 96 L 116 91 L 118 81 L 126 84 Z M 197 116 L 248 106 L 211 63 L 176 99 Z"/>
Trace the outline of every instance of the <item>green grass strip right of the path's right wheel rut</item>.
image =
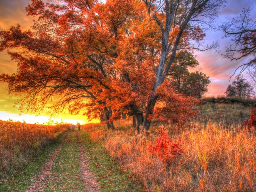
<path id="1" fill-rule="evenodd" d="M 143 191 L 141 184 L 129 177 L 128 172 L 122 172 L 105 148 L 91 141 L 87 132 L 81 131 L 80 138 L 101 191 Z"/>

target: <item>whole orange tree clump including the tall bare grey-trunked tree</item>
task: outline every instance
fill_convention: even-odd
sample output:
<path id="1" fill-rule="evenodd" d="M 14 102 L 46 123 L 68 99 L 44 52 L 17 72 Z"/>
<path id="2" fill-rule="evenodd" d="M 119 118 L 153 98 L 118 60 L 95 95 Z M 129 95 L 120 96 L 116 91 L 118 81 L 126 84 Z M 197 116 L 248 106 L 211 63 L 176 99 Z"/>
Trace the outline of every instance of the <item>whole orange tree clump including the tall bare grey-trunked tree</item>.
<path id="1" fill-rule="evenodd" d="M 110 129 L 126 112 L 137 129 L 148 130 L 154 115 L 190 113 L 193 100 L 176 94 L 166 76 L 177 51 L 209 49 L 199 46 L 205 36 L 199 25 L 210 25 L 223 2 L 32 0 L 26 10 L 38 19 L 31 30 L 0 31 L 0 51 L 18 62 L 17 73 L 0 80 L 21 98 L 21 109 L 83 110 Z"/>

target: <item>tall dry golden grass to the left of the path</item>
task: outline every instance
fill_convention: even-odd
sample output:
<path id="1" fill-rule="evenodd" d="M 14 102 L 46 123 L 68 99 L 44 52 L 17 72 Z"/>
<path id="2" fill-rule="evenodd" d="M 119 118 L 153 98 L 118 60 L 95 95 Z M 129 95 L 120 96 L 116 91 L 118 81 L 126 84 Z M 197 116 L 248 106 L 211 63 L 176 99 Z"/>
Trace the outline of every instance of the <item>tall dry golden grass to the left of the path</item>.
<path id="1" fill-rule="evenodd" d="M 27 163 L 31 153 L 69 126 L 46 126 L 0 120 L 0 174 Z"/>

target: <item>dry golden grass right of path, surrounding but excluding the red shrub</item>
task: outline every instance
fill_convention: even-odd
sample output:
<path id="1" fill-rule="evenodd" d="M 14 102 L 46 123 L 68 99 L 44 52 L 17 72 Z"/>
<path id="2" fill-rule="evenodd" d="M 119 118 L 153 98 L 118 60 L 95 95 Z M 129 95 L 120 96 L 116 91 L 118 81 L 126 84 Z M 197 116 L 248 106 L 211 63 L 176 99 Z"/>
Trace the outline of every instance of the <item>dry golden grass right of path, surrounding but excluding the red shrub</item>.
<path id="1" fill-rule="evenodd" d="M 256 191 L 255 130 L 239 126 L 225 129 L 210 123 L 206 128 L 193 124 L 179 132 L 165 127 L 173 141 L 181 141 L 183 149 L 167 165 L 149 151 L 158 136 L 156 131 L 146 136 L 127 128 L 102 136 L 104 128 L 93 131 L 96 129 L 90 128 L 91 135 L 97 138 L 99 133 L 110 155 L 137 175 L 146 190 Z"/>

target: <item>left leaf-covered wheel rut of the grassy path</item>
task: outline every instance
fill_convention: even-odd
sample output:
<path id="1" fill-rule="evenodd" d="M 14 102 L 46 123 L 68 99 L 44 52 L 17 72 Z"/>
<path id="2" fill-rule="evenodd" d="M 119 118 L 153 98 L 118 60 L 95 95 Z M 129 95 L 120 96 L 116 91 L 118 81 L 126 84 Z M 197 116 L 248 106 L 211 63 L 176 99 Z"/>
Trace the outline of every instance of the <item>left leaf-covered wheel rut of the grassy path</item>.
<path id="1" fill-rule="evenodd" d="M 57 158 L 63 143 L 65 143 L 68 139 L 70 132 L 66 135 L 66 137 L 61 141 L 61 144 L 55 149 L 54 153 L 51 154 L 48 158 L 48 161 L 43 165 L 42 170 L 32 178 L 33 184 L 29 186 L 26 192 L 38 192 L 44 191 L 42 186 L 47 184 L 47 181 L 51 176 L 51 168 L 54 165 L 54 160 Z"/>

